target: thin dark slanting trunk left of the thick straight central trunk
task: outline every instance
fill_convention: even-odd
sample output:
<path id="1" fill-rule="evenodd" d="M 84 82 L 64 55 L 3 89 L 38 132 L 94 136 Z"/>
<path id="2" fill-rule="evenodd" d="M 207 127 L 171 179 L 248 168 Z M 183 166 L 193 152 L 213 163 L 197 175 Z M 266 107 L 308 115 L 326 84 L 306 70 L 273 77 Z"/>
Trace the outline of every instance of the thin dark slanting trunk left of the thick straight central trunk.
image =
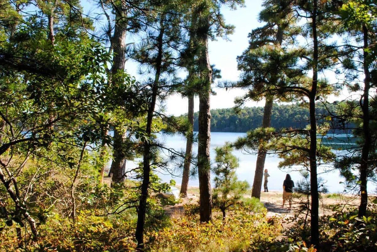
<path id="1" fill-rule="evenodd" d="M 147 115 L 146 133 L 148 137 L 150 137 L 152 133 L 153 114 L 155 111 L 155 105 L 156 105 L 156 100 L 157 100 L 157 95 L 158 95 L 159 78 L 161 75 L 161 66 L 162 66 L 162 46 L 163 46 L 164 32 L 165 32 L 164 16 L 162 16 L 161 21 L 160 21 L 160 32 L 157 38 L 158 55 L 156 58 L 156 75 L 155 75 L 155 80 L 152 86 L 152 97 L 151 97 L 151 102 L 149 105 L 148 115 Z M 143 183 L 141 184 L 141 197 L 140 197 L 140 202 L 139 202 L 138 220 L 137 220 L 136 232 L 135 232 L 135 238 L 138 242 L 136 250 L 138 251 L 142 251 L 144 249 L 144 223 L 145 223 L 145 216 L 146 216 L 146 211 L 147 211 L 148 187 L 150 183 L 150 160 L 152 159 L 152 154 L 150 150 L 151 150 L 150 141 L 144 141 Z"/>

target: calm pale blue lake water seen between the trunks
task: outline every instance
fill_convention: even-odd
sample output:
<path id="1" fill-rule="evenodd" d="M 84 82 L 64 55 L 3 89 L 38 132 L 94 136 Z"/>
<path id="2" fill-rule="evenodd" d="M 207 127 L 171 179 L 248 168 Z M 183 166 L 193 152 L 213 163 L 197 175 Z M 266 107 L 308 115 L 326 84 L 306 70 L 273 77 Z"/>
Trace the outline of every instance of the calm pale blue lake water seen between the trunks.
<path id="1" fill-rule="evenodd" d="M 233 132 L 211 132 L 211 162 L 215 165 L 215 147 L 221 147 L 224 145 L 226 141 L 233 142 L 238 137 L 245 136 L 246 133 L 233 133 Z M 337 135 L 339 136 L 339 134 Z M 327 136 L 329 137 L 329 136 Z M 333 136 L 331 136 L 333 137 Z M 335 139 L 335 137 L 334 137 Z M 177 151 L 184 151 L 186 147 L 186 140 L 181 135 L 163 135 L 159 134 L 159 140 L 166 144 L 167 148 L 173 148 Z M 333 140 L 335 141 L 335 140 Z M 340 144 L 342 144 L 340 142 Z M 194 144 L 193 152 L 197 153 L 198 144 Z M 247 180 L 250 186 L 253 185 L 254 180 L 254 172 L 255 172 L 255 165 L 257 154 L 248 154 L 245 151 L 241 150 L 234 150 L 233 154 L 238 157 L 239 159 L 239 168 L 237 169 L 236 173 L 239 180 Z M 162 153 L 162 157 L 167 157 L 170 154 L 168 152 Z M 265 161 L 265 169 L 268 169 L 268 173 L 270 177 L 268 178 L 268 189 L 271 191 L 282 191 L 283 181 L 287 173 L 289 173 L 295 183 L 299 180 L 302 180 L 303 177 L 300 175 L 298 171 L 292 171 L 288 168 L 280 170 L 278 168 L 278 164 L 281 161 L 279 157 L 276 155 L 268 154 Z M 127 168 L 133 168 L 137 166 L 137 162 L 127 161 Z M 181 173 L 182 168 L 178 167 L 179 165 L 170 165 L 170 169 L 174 171 L 174 175 L 167 173 L 166 171 L 161 171 L 158 173 L 158 176 L 161 177 L 163 182 L 169 182 L 171 179 L 176 181 L 177 185 L 181 184 Z M 296 166 L 296 168 L 300 168 L 300 166 Z M 324 171 L 328 171 L 324 173 Z M 325 186 L 327 187 L 329 192 L 343 192 L 343 184 L 342 182 L 344 179 L 340 177 L 339 171 L 334 171 L 330 165 L 321 165 L 318 168 L 319 177 L 321 177 L 324 182 Z M 211 174 L 211 180 L 213 185 L 213 178 L 214 175 Z M 189 186 L 199 186 L 199 181 L 197 176 L 192 177 L 189 181 Z M 262 188 L 263 190 L 263 188 Z M 368 192 L 374 192 L 375 186 L 368 182 Z"/>

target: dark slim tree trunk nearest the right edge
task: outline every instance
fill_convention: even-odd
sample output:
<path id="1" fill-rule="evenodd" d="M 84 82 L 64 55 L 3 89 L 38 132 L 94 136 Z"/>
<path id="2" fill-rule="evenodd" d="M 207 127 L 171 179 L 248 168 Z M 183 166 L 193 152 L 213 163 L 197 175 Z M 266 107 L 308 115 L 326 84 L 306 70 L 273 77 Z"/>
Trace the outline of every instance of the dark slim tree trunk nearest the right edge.
<path id="1" fill-rule="evenodd" d="M 366 215 L 366 208 L 368 205 L 368 191 L 366 188 L 367 183 L 367 173 L 368 173 L 368 156 L 371 146 L 371 137 L 369 133 L 369 88 L 370 88 L 370 73 L 369 73 L 369 63 L 367 62 L 368 57 L 368 28 L 363 24 L 363 39 L 364 39 L 364 53 L 363 53 L 363 67 L 364 67 L 364 93 L 363 102 L 360 102 L 360 106 L 363 111 L 363 134 L 364 134 L 364 145 L 361 151 L 361 162 L 360 162 L 360 206 L 359 206 L 359 217 Z"/>

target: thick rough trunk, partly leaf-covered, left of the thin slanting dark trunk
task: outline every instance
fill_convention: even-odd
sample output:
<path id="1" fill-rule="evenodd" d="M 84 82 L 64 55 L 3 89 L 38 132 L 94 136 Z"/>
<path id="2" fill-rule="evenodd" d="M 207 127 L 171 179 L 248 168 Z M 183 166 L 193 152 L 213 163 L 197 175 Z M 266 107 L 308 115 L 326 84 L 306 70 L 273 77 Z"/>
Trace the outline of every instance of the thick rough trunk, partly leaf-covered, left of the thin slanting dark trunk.
<path id="1" fill-rule="evenodd" d="M 126 16 L 126 8 L 124 4 L 118 7 L 118 11 L 115 11 L 115 28 L 114 34 L 111 38 L 111 43 L 113 47 L 113 66 L 111 69 L 111 85 L 116 85 L 116 78 L 114 75 L 118 72 L 124 71 L 124 66 L 126 64 L 126 24 L 122 22 L 123 18 Z M 124 181 L 124 173 L 126 167 L 126 160 L 124 155 L 124 150 L 122 149 L 122 143 L 124 140 L 123 136 L 124 130 L 117 130 L 114 127 L 114 150 L 113 150 L 113 162 L 111 164 L 110 173 L 112 174 L 112 183 L 121 183 Z M 109 176 L 110 176 L 109 173 Z"/>

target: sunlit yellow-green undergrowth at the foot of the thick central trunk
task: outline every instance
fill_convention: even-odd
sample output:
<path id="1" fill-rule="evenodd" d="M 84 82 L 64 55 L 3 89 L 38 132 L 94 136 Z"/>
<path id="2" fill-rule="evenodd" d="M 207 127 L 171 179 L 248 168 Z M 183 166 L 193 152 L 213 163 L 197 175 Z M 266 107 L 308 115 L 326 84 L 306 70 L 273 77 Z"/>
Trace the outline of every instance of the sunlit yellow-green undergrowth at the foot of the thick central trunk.
<path id="1" fill-rule="evenodd" d="M 280 221 L 268 223 L 265 211 L 247 214 L 244 210 L 231 211 L 223 223 L 221 215 L 215 215 L 209 223 L 199 223 L 192 210 L 198 205 L 185 205 L 186 215 L 173 219 L 172 225 L 152 237 L 148 246 L 155 251 L 244 251 L 263 246 L 279 234 Z M 195 211 L 194 211 L 195 212 Z M 247 232 L 245 232 L 247 231 Z"/>

